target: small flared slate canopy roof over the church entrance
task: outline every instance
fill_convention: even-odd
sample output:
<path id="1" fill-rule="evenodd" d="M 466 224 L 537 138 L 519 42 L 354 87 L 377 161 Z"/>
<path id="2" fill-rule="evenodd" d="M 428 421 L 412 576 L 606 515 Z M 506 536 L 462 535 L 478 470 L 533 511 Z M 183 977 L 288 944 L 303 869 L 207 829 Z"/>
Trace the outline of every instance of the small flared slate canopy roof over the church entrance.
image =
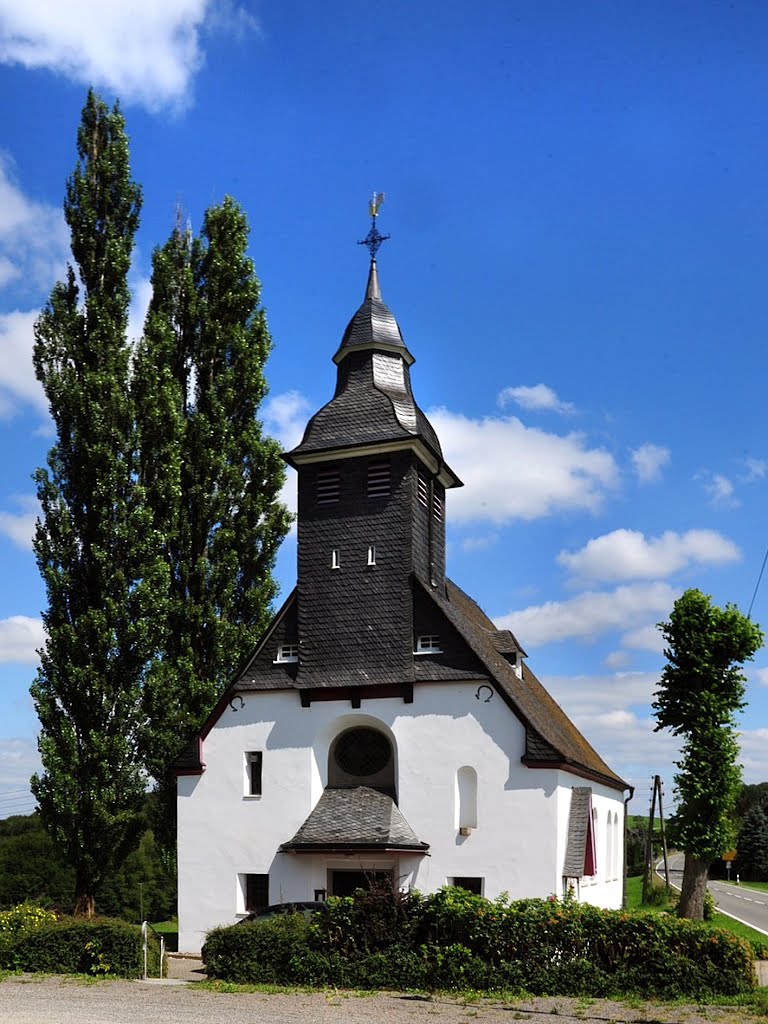
<path id="1" fill-rule="evenodd" d="M 351 848 L 413 850 L 425 853 L 422 843 L 391 797 L 357 785 L 324 792 L 309 817 L 283 852 L 312 852 Z"/>

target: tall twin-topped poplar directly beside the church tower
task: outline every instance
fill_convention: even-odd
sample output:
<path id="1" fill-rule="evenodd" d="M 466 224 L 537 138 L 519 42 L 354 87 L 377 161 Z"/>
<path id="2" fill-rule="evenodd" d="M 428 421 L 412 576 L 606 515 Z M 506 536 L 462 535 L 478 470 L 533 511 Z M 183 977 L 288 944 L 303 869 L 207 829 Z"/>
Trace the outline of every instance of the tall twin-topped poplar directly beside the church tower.
<path id="1" fill-rule="evenodd" d="M 179 744 L 267 625 L 290 525 L 280 447 L 258 419 L 271 340 L 247 246 L 245 214 L 228 198 L 198 238 L 177 224 L 154 254 L 134 364 L 140 478 L 170 572 L 144 689 L 142 750 L 161 791 L 174 788 Z"/>

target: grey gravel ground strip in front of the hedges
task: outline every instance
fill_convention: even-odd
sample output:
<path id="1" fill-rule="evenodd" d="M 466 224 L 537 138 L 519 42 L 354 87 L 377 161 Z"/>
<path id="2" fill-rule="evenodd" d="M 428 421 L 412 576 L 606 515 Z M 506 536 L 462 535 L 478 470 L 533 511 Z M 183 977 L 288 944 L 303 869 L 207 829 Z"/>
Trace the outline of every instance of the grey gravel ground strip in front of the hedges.
<path id="1" fill-rule="evenodd" d="M 607 999 L 486 999 L 395 993 L 226 994 L 195 984 L 11 977 L 0 983 L 2 1024 L 741 1024 L 740 1008 L 659 1006 Z M 765 1018 L 763 1018 L 765 1020 Z"/>

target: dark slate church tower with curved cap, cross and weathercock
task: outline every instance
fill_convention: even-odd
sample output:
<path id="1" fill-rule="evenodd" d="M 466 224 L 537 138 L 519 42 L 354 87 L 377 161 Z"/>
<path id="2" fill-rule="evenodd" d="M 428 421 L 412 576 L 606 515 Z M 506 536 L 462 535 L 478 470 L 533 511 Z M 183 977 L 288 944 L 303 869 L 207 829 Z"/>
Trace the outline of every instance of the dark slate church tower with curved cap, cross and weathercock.
<path id="1" fill-rule="evenodd" d="M 381 297 L 378 207 L 361 243 L 365 298 L 333 357 L 336 392 L 285 456 L 298 472 L 299 688 L 413 683 L 414 581 L 445 593 L 445 490 L 461 481 Z"/>

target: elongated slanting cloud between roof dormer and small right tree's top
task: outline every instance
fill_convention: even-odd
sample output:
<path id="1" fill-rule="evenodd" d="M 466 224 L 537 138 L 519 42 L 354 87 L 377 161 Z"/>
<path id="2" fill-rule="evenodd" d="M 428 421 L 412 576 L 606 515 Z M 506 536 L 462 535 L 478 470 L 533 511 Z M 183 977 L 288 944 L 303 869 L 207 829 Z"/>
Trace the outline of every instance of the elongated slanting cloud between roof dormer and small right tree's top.
<path id="1" fill-rule="evenodd" d="M 666 583 L 630 584 L 531 605 L 498 615 L 495 622 L 500 629 L 512 630 L 524 647 L 573 638 L 593 640 L 613 630 L 644 626 L 651 614 L 667 614 L 678 596 L 679 591 Z"/>

